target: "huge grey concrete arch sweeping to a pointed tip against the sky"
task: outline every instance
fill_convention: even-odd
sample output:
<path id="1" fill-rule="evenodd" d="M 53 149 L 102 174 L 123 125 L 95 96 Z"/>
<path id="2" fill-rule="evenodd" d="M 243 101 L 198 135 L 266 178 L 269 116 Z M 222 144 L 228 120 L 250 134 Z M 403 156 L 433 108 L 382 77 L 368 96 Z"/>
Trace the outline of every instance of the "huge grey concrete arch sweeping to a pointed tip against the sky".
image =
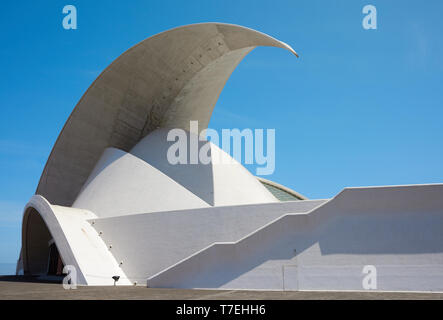
<path id="1" fill-rule="evenodd" d="M 129 151 L 159 127 L 204 129 L 226 81 L 257 46 L 287 49 L 258 31 L 231 24 L 175 28 L 135 45 L 89 87 L 58 137 L 37 187 L 70 206 L 107 147 Z"/>

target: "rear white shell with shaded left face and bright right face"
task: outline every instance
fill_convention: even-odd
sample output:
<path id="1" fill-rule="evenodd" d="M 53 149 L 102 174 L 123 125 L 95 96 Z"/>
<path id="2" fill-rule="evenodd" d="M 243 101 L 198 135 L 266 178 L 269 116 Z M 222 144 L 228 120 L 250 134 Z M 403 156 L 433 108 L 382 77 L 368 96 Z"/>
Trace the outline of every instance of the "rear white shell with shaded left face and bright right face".
<path id="1" fill-rule="evenodd" d="M 167 141 L 168 132 L 167 128 L 155 130 L 143 138 L 130 153 L 163 172 L 211 206 L 278 202 L 238 161 L 206 140 L 198 142 L 199 150 L 209 144 L 211 159 L 214 161 L 209 164 L 200 161 L 197 164 L 190 161 L 187 164 L 170 164 L 167 159 L 168 148 L 175 142 Z M 190 137 L 196 141 L 198 137 L 188 131 L 185 133 L 188 141 L 187 159 L 190 159 Z"/>

